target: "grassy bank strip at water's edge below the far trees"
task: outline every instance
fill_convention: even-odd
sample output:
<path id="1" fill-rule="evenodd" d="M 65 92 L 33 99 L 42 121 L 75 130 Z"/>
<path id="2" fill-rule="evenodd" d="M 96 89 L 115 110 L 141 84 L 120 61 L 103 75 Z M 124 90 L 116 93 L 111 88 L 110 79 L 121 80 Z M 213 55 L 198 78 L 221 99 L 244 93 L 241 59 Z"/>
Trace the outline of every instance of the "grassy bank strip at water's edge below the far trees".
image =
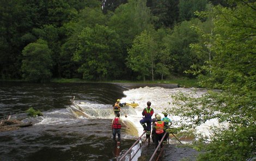
<path id="1" fill-rule="evenodd" d="M 72 78 L 72 79 L 65 79 L 65 78 L 54 78 L 51 82 L 56 83 L 94 83 L 93 81 Z M 188 79 L 188 78 L 174 78 L 170 80 L 147 80 L 147 81 L 131 81 L 131 80 L 106 80 L 100 81 L 98 83 L 145 83 L 145 84 L 179 84 L 180 87 L 183 88 L 191 88 L 191 87 L 199 87 L 197 84 L 197 79 Z"/>

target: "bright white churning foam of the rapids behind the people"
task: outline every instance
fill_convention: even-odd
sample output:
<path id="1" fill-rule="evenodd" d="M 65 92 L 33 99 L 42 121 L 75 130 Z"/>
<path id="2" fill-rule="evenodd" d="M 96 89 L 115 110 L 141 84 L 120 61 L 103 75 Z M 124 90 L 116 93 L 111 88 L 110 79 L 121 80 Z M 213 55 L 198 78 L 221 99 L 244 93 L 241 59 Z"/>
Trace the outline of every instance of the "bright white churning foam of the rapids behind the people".
<path id="1" fill-rule="evenodd" d="M 124 91 L 126 97 L 121 98 L 121 102 L 128 102 L 138 103 L 139 106 L 135 108 L 137 115 L 127 115 L 127 117 L 122 116 L 122 119 L 127 119 L 135 125 L 138 130 L 138 136 L 143 133 L 143 127 L 139 121 L 142 119 L 142 111 L 145 107 L 147 107 L 147 102 L 151 102 L 151 108 L 154 109 L 154 114 L 152 118 L 154 118 L 155 113 L 159 113 L 161 117 L 163 117 L 162 112 L 165 109 L 175 108 L 172 102 L 172 95 L 176 92 L 184 92 L 190 93 L 193 92 L 194 88 L 174 88 L 174 89 L 165 89 L 161 87 L 144 87 L 144 88 L 137 88 Z M 204 94 L 206 90 L 198 90 L 197 95 L 194 97 L 200 97 L 200 95 Z M 169 113 L 168 116 L 173 122 L 180 121 L 181 117 L 174 116 L 172 113 Z M 220 126 L 218 125 L 218 121 L 216 119 L 212 119 L 206 121 L 203 125 L 200 125 L 196 128 L 197 132 L 204 135 L 210 135 L 209 129 L 210 126 Z"/>

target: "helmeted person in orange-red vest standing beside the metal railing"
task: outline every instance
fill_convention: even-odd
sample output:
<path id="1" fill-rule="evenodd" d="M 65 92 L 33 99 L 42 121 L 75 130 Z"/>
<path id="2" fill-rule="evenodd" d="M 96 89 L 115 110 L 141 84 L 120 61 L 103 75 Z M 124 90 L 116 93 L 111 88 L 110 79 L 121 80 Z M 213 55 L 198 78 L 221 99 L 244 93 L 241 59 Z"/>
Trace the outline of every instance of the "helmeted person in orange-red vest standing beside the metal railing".
<path id="1" fill-rule="evenodd" d="M 161 121 L 161 116 L 160 115 L 156 115 L 156 122 L 155 122 L 155 127 L 154 127 L 155 131 L 156 131 L 156 139 L 155 139 L 155 143 L 156 143 L 156 147 L 159 145 L 159 142 L 161 141 L 161 139 L 163 138 L 164 135 L 164 121 Z M 162 147 L 162 144 L 161 144 Z"/>

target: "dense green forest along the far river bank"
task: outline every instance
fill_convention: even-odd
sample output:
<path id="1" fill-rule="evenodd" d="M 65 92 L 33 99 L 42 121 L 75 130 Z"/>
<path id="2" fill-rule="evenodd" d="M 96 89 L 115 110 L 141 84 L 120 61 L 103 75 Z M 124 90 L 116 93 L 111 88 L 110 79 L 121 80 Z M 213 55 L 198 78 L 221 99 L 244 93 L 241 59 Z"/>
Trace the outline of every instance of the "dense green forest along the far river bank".
<path id="1" fill-rule="evenodd" d="M 3 0 L 1 79 L 47 82 L 195 78 L 214 57 L 214 6 L 224 1 Z M 200 30 L 200 32 L 199 32 Z M 193 49 L 200 45 L 200 52 Z"/>

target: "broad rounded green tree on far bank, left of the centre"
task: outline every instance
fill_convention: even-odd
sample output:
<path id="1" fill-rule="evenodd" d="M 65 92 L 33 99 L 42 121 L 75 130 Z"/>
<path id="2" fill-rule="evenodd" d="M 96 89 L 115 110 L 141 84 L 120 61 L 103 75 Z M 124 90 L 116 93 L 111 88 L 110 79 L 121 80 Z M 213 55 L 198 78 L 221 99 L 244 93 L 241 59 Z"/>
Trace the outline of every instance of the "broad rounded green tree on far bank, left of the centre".
<path id="1" fill-rule="evenodd" d="M 118 35 L 105 26 L 96 24 L 86 27 L 79 35 L 78 49 L 74 60 L 81 63 L 78 71 L 86 80 L 104 80 L 109 78 L 109 71 L 117 68 L 115 55 L 119 52 Z"/>

